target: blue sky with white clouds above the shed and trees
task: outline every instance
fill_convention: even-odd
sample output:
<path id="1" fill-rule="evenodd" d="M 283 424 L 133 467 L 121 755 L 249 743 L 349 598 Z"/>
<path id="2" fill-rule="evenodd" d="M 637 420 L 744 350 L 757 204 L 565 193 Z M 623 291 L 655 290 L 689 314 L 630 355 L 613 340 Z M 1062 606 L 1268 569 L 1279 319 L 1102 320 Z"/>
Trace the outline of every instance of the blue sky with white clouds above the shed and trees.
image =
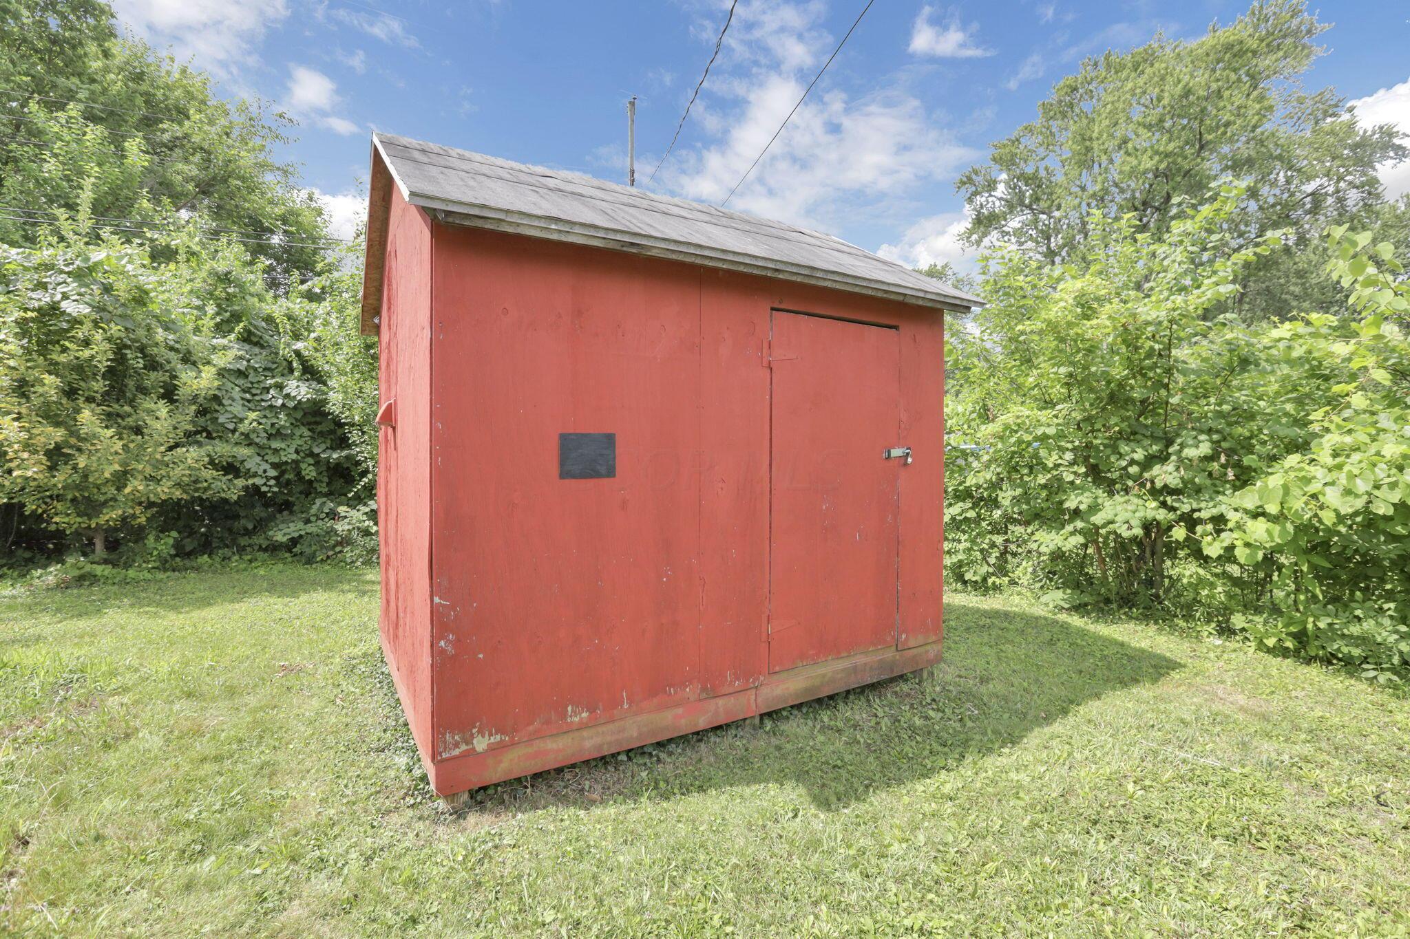
<path id="1" fill-rule="evenodd" d="M 372 130 L 719 203 L 864 0 L 740 0 L 674 152 L 729 0 L 117 0 L 135 34 L 299 121 L 286 156 L 350 225 Z M 1084 55 L 1158 30 L 1194 38 L 1246 3 L 876 0 L 732 208 L 836 234 L 909 265 L 960 260 L 955 177 L 1035 114 Z M 1410 3 L 1338 0 L 1308 87 L 1410 132 Z M 1410 166 L 1386 168 L 1410 190 Z"/>

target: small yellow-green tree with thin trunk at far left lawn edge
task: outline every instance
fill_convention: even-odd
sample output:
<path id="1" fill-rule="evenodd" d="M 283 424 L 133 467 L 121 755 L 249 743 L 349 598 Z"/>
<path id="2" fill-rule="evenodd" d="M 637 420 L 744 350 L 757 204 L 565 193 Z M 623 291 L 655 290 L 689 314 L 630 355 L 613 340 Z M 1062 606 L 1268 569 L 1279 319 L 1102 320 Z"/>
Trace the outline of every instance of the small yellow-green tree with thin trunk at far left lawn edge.
<path id="1" fill-rule="evenodd" d="M 226 362 L 157 303 L 140 251 L 0 248 L 0 498 L 92 539 L 233 496 L 199 431 Z"/>

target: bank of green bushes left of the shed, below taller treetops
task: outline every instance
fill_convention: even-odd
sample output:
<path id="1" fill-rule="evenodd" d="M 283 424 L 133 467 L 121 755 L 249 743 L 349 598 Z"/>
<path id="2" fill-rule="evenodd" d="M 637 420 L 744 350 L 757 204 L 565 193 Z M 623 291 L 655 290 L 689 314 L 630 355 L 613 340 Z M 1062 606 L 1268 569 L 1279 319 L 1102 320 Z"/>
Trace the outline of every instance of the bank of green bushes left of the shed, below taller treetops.
<path id="1" fill-rule="evenodd" d="M 296 341 L 320 308 L 234 245 L 178 234 L 154 260 L 85 238 L 0 251 L 0 501 L 127 563 L 365 560 L 365 456 Z"/>

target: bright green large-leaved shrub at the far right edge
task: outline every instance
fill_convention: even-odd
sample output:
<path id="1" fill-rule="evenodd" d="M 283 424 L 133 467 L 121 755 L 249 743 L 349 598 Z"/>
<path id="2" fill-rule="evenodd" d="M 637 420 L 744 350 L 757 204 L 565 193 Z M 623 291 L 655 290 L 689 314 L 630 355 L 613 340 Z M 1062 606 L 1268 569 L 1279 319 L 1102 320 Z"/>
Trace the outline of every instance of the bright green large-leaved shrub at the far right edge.
<path id="1" fill-rule="evenodd" d="M 1222 504 L 1204 550 L 1232 553 L 1277 590 L 1258 639 L 1390 679 L 1410 666 L 1410 284 L 1389 244 L 1331 231 L 1330 270 L 1354 317 L 1311 314 L 1273 331 L 1293 359 L 1335 356 L 1352 374 L 1311 412 L 1304 450 Z"/>

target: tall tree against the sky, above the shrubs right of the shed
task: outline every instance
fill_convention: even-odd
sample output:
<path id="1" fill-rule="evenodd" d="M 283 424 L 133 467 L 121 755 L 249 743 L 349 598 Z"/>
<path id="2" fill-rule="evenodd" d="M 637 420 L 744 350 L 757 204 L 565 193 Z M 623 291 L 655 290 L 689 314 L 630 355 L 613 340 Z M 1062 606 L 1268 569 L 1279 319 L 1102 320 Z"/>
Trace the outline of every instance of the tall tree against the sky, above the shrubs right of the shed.
<path id="1" fill-rule="evenodd" d="M 973 245 L 1014 245 L 1046 263 L 1076 260 L 1094 220 L 1131 218 L 1163 238 L 1222 179 L 1242 180 L 1238 234 L 1286 231 L 1317 244 L 1331 220 L 1355 220 L 1382 200 L 1376 165 L 1403 159 L 1393 128 L 1361 128 L 1332 90 L 1297 83 L 1325 27 L 1304 0 L 1261 0 L 1196 42 L 1158 37 L 1128 53 L 1086 59 L 1038 107 L 1038 118 L 993 145 L 960 176 Z M 1320 263 L 1292 275 L 1300 252 L 1244 273 L 1244 300 L 1286 315 L 1325 301 Z"/>

